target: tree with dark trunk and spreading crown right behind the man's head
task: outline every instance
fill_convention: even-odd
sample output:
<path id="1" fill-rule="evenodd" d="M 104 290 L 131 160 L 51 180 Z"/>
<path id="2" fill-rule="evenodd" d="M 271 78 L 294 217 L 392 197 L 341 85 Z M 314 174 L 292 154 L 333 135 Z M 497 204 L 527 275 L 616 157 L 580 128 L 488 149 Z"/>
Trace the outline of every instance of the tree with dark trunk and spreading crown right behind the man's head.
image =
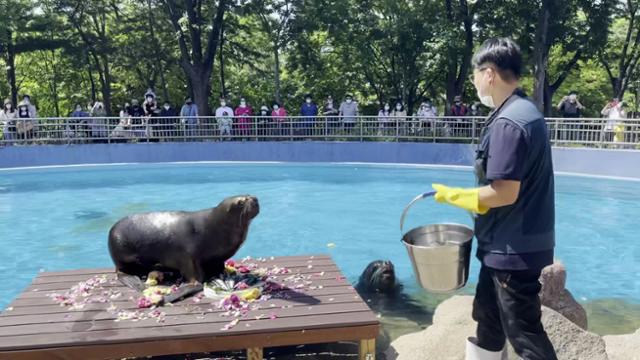
<path id="1" fill-rule="evenodd" d="M 549 116 L 553 95 L 569 74 L 605 45 L 615 1 L 499 1 L 480 14 L 481 37 L 508 36 L 520 44 L 533 69 L 533 99 Z"/>

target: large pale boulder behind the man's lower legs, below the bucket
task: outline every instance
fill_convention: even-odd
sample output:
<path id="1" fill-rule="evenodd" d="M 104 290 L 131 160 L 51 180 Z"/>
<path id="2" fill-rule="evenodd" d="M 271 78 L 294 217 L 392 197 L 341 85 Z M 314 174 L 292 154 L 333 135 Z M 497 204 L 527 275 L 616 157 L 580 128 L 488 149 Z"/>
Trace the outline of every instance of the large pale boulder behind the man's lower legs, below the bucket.
<path id="1" fill-rule="evenodd" d="M 401 336 L 385 352 L 388 360 L 463 360 L 467 337 L 475 335 L 472 296 L 454 296 L 438 306 L 433 325 Z M 559 313 L 543 307 L 542 322 L 559 360 L 607 360 L 605 343 Z M 510 359 L 516 359 L 513 350 Z"/>

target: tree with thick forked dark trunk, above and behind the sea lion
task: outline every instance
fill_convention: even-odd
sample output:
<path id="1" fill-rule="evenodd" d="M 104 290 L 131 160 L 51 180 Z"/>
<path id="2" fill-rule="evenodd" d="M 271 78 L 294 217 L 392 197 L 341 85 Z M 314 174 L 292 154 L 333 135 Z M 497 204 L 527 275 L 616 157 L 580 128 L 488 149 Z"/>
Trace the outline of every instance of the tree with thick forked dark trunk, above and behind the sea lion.
<path id="1" fill-rule="evenodd" d="M 200 114 L 208 115 L 213 62 L 227 1 L 218 0 L 215 8 L 201 0 L 164 0 L 164 4 L 178 39 L 180 66 L 186 75 L 190 95 L 200 108 Z"/>

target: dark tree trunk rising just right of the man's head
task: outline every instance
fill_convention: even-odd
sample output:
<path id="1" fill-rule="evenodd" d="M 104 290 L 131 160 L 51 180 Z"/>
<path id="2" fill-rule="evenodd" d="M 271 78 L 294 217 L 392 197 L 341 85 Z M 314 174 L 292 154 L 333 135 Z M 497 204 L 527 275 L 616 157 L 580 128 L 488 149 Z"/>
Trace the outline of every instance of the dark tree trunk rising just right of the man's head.
<path id="1" fill-rule="evenodd" d="M 547 1 L 542 1 L 542 8 L 538 15 L 538 25 L 536 29 L 535 44 L 533 50 L 534 59 L 534 85 L 533 85 L 533 101 L 540 111 L 545 108 L 545 84 L 547 83 L 547 63 L 549 61 L 548 32 L 549 5 Z"/>

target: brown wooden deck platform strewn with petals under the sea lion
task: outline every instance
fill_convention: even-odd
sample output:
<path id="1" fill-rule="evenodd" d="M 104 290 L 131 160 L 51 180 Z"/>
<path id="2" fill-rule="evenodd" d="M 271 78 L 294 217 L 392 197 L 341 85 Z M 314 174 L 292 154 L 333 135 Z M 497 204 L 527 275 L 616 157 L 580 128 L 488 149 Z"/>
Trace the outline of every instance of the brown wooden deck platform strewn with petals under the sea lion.
<path id="1" fill-rule="evenodd" d="M 115 280 L 113 269 L 87 269 L 39 274 L 0 314 L 0 359 L 120 359 L 123 357 L 246 349 L 250 360 L 262 359 L 263 348 L 284 345 L 360 341 L 360 358 L 373 360 L 379 321 L 326 255 L 261 259 L 260 266 L 291 270 L 278 276 L 288 289 L 279 298 L 256 302 L 240 321 L 210 299 L 185 299 L 158 308 L 166 315 L 119 320 L 118 311 L 134 312 L 137 294 Z M 105 302 L 72 310 L 51 299 L 80 281 L 107 274 L 105 293 L 121 294 Z M 285 278 L 298 275 L 300 285 Z M 278 281 L 280 283 L 280 281 Z M 149 312 L 149 309 L 142 309 Z"/>

